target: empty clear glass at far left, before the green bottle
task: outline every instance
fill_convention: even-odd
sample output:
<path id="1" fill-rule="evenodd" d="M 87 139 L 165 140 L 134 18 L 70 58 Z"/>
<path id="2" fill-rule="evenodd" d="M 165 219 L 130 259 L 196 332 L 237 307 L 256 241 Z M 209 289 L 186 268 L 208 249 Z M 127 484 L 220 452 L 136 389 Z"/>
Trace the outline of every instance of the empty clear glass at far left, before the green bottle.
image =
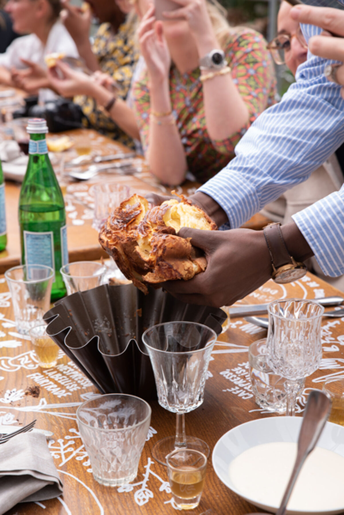
<path id="1" fill-rule="evenodd" d="M 50 307 L 54 270 L 45 265 L 14 266 L 5 272 L 11 293 L 16 329 L 28 334 Z"/>

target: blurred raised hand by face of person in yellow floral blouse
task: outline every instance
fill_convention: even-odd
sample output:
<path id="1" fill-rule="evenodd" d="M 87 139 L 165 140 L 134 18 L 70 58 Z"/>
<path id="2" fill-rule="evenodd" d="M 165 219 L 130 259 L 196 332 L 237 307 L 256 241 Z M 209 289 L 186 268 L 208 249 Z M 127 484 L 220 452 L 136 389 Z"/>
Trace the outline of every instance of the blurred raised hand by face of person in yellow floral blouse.
<path id="1" fill-rule="evenodd" d="M 76 7 L 70 0 L 61 0 L 61 20 L 77 46 L 89 39 L 91 27 L 91 9 Z"/>

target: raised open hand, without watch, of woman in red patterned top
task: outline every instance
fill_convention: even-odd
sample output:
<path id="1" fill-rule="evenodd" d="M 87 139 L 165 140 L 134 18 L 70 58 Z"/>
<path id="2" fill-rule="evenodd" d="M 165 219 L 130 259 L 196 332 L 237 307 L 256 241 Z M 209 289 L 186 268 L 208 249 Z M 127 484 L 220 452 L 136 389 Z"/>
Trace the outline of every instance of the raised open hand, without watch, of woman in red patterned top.
<path id="1" fill-rule="evenodd" d="M 153 5 L 144 15 L 138 34 L 141 53 L 146 61 L 150 80 L 162 82 L 168 79 L 171 58 L 162 23 L 156 21 Z"/>

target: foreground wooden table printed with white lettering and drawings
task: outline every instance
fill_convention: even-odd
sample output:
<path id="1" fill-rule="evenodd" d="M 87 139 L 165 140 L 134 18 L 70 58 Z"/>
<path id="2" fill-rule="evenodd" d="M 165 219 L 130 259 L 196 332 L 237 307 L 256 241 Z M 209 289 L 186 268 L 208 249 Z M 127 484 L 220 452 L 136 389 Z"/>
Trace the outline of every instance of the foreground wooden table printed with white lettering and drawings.
<path id="1" fill-rule="evenodd" d="M 311 274 L 300 281 L 277 285 L 272 281 L 240 301 L 262 303 L 273 299 L 310 298 L 340 295 L 339 291 Z M 95 388 L 77 373 L 64 356 L 51 370 L 38 367 L 30 343 L 13 327 L 13 312 L 6 283 L 0 278 L 0 423 L 26 424 L 37 418 L 36 426 L 54 432 L 48 447 L 60 473 L 63 496 L 40 504 L 18 505 L 8 515 L 124 515 L 174 513 L 167 486 L 166 470 L 154 462 L 151 449 L 159 439 L 173 435 L 175 415 L 151 402 L 152 419 L 149 440 L 141 457 L 139 474 L 128 488 L 99 485 L 92 477 L 76 423 L 77 406 Z M 324 318 L 322 323 L 323 359 L 321 368 L 308 377 L 297 414 L 304 408 L 311 388 L 321 388 L 329 377 L 342 374 L 344 368 L 344 317 Z M 208 442 L 211 450 L 216 441 L 238 424 L 261 417 L 271 417 L 254 402 L 251 391 L 247 348 L 265 337 L 264 329 L 254 327 L 242 318 L 233 318 L 229 329 L 216 344 L 209 366 L 203 404 L 187 414 L 187 434 Z M 40 386 L 38 398 L 25 395 L 28 387 Z M 244 515 L 256 511 L 246 501 L 226 488 L 215 475 L 209 460 L 204 493 L 195 515 Z"/>

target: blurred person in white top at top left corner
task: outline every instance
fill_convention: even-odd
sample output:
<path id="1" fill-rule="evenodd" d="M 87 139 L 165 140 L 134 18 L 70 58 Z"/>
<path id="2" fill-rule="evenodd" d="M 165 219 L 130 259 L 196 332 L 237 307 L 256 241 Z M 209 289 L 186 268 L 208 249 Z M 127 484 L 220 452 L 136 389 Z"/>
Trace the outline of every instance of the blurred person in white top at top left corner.
<path id="1" fill-rule="evenodd" d="M 39 92 L 40 101 L 57 97 L 47 89 L 49 82 L 44 57 L 53 52 L 77 57 L 76 45 L 59 20 L 60 0 L 8 0 L 5 6 L 15 39 L 0 54 L 0 83 L 19 87 L 28 93 Z"/>

